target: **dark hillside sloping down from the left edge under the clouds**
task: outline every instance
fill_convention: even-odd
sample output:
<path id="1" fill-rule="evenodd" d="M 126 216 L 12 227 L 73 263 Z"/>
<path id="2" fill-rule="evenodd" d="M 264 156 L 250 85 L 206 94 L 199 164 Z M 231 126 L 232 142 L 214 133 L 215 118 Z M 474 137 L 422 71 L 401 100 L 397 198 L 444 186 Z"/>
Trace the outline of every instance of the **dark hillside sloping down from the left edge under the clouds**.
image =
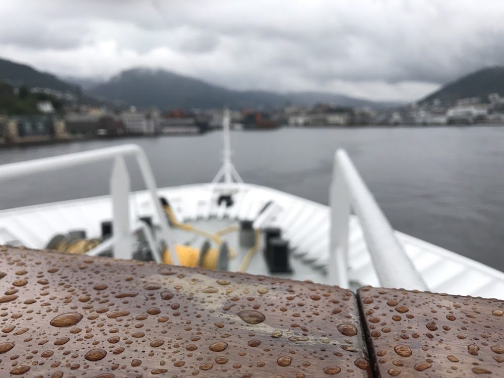
<path id="1" fill-rule="evenodd" d="M 61 92 L 80 93 L 79 86 L 69 84 L 56 76 L 37 71 L 30 66 L 0 58 L 0 81 L 27 87 L 50 88 Z"/>

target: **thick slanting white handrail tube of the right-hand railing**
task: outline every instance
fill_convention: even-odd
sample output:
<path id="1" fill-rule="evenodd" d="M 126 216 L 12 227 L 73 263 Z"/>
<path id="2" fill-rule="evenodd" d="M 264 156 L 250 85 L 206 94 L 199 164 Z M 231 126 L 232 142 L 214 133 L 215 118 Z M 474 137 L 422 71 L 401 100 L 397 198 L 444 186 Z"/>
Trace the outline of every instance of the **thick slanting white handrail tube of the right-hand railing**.
<path id="1" fill-rule="evenodd" d="M 342 181 L 348 187 L 351 208 L 360 220 L 380 284 L 385 287 L 427 290 L 420 273 L 399 244 L 389 221 L 344 150 L 336 151 L 335 163 L 337 171 L 343 176 Z"/>

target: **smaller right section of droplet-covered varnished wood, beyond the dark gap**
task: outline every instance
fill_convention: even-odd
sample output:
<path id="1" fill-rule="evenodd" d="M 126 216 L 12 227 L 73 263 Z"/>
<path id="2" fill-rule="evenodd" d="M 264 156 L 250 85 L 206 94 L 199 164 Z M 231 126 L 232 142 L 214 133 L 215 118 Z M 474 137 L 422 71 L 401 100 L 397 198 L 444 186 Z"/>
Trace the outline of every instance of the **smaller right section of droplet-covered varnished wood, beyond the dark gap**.
<path id="1" fill-rule="evenodd" d="M 364 287 L 378 376 L 504 377 L 504 301 Z"/>

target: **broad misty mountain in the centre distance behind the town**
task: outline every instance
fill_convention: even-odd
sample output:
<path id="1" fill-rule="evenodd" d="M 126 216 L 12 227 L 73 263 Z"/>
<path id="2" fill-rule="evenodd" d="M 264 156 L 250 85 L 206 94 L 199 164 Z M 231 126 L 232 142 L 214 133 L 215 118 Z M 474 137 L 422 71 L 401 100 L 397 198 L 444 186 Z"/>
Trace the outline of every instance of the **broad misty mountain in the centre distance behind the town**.
<path id="1" fill-rule="evenodd" d="M 276 93 L 269 91 L 235 91 L 165 70 L 135 68 L 123 71 L 108 82 L 89 90 L 99 98 L 119 100 L 139 108 L 156 106 L 174 108 L 275 108 L 292 105 L 313 105 L 329 102 L 340 106 L 387 106 L 387 103 L 319 92 Z"/>

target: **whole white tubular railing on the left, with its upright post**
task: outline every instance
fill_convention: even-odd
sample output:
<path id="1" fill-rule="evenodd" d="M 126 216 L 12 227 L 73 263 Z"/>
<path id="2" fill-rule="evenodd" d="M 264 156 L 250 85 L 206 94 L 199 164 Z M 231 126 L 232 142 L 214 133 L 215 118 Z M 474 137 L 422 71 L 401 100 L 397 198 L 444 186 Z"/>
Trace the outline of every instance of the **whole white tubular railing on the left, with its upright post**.
<path id="1" fill-rule="evenodd" d="M 154 211 L 159 218 L 161 237 L 159 248 L 152 253 L 156 261 L 160 261 L 159 252 L 168 246 L 170 230 L 167 218 L 161 208 L 157 195 L 157 185 L 152 173 L 149 160 L 140 146 L 125 144 L 121 146 L 101 148 L 97 150 L 76 152 L 67 155 L 54 156 L 18 163 L 0 165 L 0 181 L 12 177 L 25 176 L 31 173 L 40 173 L 54 169 L 73 167 L 93 162 L 113 159 L 112 174 L 110 175 L 110 194 L 112 198 L 112 226 L 113 226 L 113 253 L 119 259 L 132 258 L 132 238 L 130 227 L 130 176 L 124 162 L 124 157 L 133 156 L 138 163 L 142 178 L 154 205 Z M 107 243 L 108 244 L 108 243 Z M 171 259 L 178 264 L 174 249 L 171 249 Z"/>

